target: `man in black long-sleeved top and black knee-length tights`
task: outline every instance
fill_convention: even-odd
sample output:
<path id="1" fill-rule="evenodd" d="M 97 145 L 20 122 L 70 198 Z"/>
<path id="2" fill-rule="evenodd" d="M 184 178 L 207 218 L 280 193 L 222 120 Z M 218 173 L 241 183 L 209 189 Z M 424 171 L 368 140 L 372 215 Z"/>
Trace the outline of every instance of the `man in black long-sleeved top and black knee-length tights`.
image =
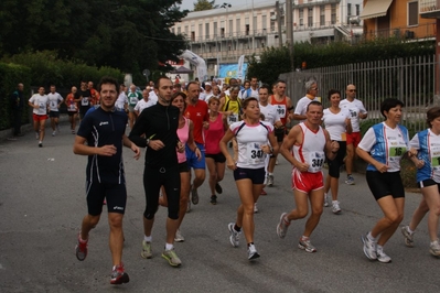
<path id="1" fill-rule="evenodd" d="M 142 258 L 151 258 L 152 228 L 158 211 L 159 191 L 163 185 L 168 199 L 167 241 L 162 252 L 170 265 L 180 267 L 181 260 L 174 251 L 174 236 L 179 227 L 180 170 L 176 149 L 184 151 L 179 141 L 178 107 L 171 106 L 173 84 L 168 77 L 159 77 L 154 83 L 159 101 L 144 109 L 130 132 L 130 140 L 146 152 L 143 170 L 143 188 L 146 191 L 146 209 L 143 211 Z M 146 139 L 147 138 L 147 139 Z"/>

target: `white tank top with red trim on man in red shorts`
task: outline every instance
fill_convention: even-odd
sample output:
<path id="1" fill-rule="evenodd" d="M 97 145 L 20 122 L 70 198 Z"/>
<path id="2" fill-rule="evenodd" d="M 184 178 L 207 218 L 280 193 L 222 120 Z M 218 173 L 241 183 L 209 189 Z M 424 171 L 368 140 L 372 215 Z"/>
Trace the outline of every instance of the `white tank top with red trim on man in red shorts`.
<path id="1" fill-rule="evenodd" d="M 293 145 L 293 158 L 309 164 L 308 172 L 321 172 L 325 161 L 325 134 L 322 127 L 316 132 L 309 129 L 304 122 L 299 123 L 302 130 L 302 144 Z"/>

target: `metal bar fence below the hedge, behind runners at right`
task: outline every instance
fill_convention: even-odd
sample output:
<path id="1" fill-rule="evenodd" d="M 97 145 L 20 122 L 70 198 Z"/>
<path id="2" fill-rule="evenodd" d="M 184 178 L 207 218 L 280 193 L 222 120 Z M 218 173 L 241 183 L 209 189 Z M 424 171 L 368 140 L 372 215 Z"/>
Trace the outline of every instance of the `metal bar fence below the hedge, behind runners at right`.
<path id="1" fill-rule="evenodd" d="M 420 56 L 291 72 L 279 78 L 287 82 L 287 95 L 293 105 L 305 95 L 304 84 L 310 79 L 318 82 L 324 107 L 329 107 L 330 89 L 341 90 L 345 98 L 346 85 L 354 84 L 368 119 L 380 120 L 380 102 L 397 98 L 406 105 L 401 123 L 419 131 L 426 128 L 426 111 L 434 100 L 434 56 Z"/>

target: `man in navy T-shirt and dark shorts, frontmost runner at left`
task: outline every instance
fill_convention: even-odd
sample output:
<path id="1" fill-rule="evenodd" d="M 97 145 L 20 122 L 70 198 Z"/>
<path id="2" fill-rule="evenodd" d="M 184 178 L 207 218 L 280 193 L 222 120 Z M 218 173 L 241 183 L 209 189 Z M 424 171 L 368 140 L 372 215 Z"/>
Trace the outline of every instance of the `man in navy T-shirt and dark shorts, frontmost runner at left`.
<path id="1" fill-rule="evenodd" d="M 111 284 L 129 282 L 122 263 L 122 217 L 127 202 L 124 175 L 122 145 L 130 148 L 138 160 L 140 151 L 125 134 L 127 115 L 115 109 L 118 97 L 118 83 L 111 77 L 103 77 L 99 83 L 101 104 L 95 111 L 84 117 L 75 138 L 74 153 L 88 155 L 86 169 L 87 215 L 83 218 L 75 248 L 76 258 L 87 257 L 89 231 L 96 227 L 103 213 L 103 200 L 107 198 L 108 223 L 110 226 L 109 246 L 112 259 Z"/>

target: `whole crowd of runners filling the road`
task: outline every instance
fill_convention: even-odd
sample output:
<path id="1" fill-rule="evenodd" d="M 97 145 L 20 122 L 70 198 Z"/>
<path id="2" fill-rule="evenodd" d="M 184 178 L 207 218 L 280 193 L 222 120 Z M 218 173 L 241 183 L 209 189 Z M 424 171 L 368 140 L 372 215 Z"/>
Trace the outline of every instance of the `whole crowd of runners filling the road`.
<path id="1" fill-rule="evenodd" d="M 19 84 L 13 94 L 17 102 L 23 99 L 22 88 Z M 218 195 L 223 193 L 221 183 L 226 167 L 233 171 L 240 198 L 235 220 L 225 224 L 230 245 L 238 247 L 244 234 L 247 258 L 259 258 L 254 239 L 254 215 L 258 213 L 258 197 L 267 194 L 265 186 L 276 183 L 279 154 L 292 164 L 294 195 L 294 208 L 282 213 L 276 225 L 280 238 L 286 237 L 292 221 L 309 215 L 310 207 L 298 247 L 307 252 L 316 251 L 311 242 L 312 232 L 324 207 L 331 206 L 335 215 L 341 214 L 340 172 L 345 169 L 345 184 L 354 185 L 353 163 L 358 156 L 368 163 L 366 181 L 384 214 L 371 231 L 362 235 L 363 251 L 371 260 L 390 262 L 384 247 L 404 219 L 405 189 L 399 171 L 400 160 L 408 159 L 417 167 L 422 199 L 409 225 L 400 228 L 404 241 L 408 247 L 414 246 L 415 230 L 429 213 L 429 251 L 440 257 L 440 107 L 427 111 L 427 129 L 410 138 L 399 123 L 404 104 L 398 99 L 385 99 L 379 109 L 384 121 L 362 137 L 359 124 L 367 118 L 367 110 L 356 98 L 355 85 L 348 84 L 345 93 L 330 89 L 324 97 L 330 105 L 326 109 L 318 98 L 316 82 L 307 82 L 304 89 L 305 96 L 294 104 L 286 96 L 286 82 L 259 85 L 256 77 L 243 86 L 235 78 L 223 85 L 216 80 L 194 80 L 182 86 L 160 77 L 143 90 L 136 85 L 127 90 L 114 78 L 104 77 L 98 90 L 93 88 L 93 83 L 82 82 L 79 89 L 73 87 L 65 99 L 56 93 L 55 86 L 51 86 L 49 95 L 40 87 L 29 99 L 39 146 L 43 146 L 47 113 L 52 135 L 60 131 L 58 109 L 64 102 L 71 131 L 76 134 L 74 152 L 88 155 L 88 210 L 78 234 L 77 259 L 85 260 L 89 231 L 99 221 L 103 203 L 107 203 L 114 262 L 110 282 L 129 281 L 121 261 L 127 202 L 122 145 L 133 152 L 135 159 L 140 158 L 139 148 L 147 149 L 146 208 L 140 241 L 140 254 L 144 259 L 153 256 L 152 227 L 158 207 L 162 205 L 168 207 L 162 258 L 172 267 L 182 264 L 174 241 L 184 241 L 180 229 L 184 216 L 200 200 L 208 198 L 213 205 L 221 200 Z M 77 116 L 79 128 L 76 131 Z M 15 128 L 14 133 L 20 135 L 20 129 Z M 329 169 L 326 176 L 324 164 Z M 200 195 L 206 169 L 211 194 Z"/>

